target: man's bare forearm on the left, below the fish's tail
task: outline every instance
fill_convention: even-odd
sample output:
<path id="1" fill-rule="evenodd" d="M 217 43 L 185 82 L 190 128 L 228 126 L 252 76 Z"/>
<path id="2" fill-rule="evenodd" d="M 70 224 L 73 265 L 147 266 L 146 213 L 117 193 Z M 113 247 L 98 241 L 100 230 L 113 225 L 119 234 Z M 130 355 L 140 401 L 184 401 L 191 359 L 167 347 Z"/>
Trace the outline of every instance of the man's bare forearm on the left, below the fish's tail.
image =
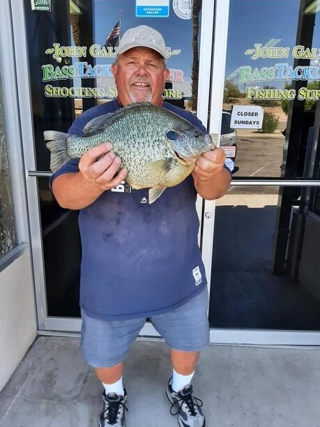
<path id="1" fill-rule="evenodd" d="M 52 183 L 56 201 L 66 209 L 82 209 L 93 203 L 103 193 L 84 179 L 80 172 L 63 174 Z"/>

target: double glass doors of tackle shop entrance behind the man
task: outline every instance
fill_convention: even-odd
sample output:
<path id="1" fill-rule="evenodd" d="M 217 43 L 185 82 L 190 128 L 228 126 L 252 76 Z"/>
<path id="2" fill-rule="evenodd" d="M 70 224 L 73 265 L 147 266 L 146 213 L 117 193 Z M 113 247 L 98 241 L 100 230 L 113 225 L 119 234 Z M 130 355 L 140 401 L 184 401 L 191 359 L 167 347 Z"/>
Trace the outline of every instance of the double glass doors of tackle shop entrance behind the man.
<path id="1" fill-rule="evenodd" d="M 233 172 L 221 200 L 197 201 L 211 341 L 317 343 L 319 8 L 310 0 L 24 0 L 13 10 L 17 63 L 28 70 L 18 84 L 40 331 L 81 328 L 78 212 L 61 209 L 49 190 L 43 131 L 66 131 L 116 96 L 119 35 L 147 24 L 167 44 L 163 98 L 208 125 Z M 258 129 L 262 117 L 271 127 Z M 155 331 L 146 324 L 141 334 Z"/>

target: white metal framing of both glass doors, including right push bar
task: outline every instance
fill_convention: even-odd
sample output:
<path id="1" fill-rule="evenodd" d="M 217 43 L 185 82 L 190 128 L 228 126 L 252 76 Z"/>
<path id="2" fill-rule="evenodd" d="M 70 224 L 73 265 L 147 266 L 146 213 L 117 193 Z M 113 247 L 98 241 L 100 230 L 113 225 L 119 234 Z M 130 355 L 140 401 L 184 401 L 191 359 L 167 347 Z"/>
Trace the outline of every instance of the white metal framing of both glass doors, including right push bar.
<path id="1" fill-rule="evenodd" d="M 31 253 L 33 277 L 36 292 L 36 308 L 39 334 L 78 334 L 81 320 L 72 317 L 49 317 L 45 292 L 45 267 L 43 261 L 43 241 L 40 227 L 40 204 L 36 177 L 49 177 L 48 172 L 36 170 L 36 157 L 33 148 L 33 119 L 29 80 L 28 52 L 24 3 L 18 1 L 12 10 L 15 61 L 18 70 L 17 87 L 19 93 L 20 121 L 23 137 L 24 171 L 31 232 Z M 227 33 L 229 21 L 229 0 L 203 0 L 201 10 L 201 43 L 199 52 L 199 91 L 197 116 L 208 123 L 208 130 L 217 137 L 220 144 L 220 123 L 222 116 L 224 68 L 227 54 Z M 210 87 L 210 91 L 208 91 Z M 208 119 L 209 112 L 209 119 Z M 320 180 L 302 181 L 232 181 L 232 185 L 276 185 L 276 186 L 319 186 Z M 211 262 L 215 222 L 215 202 L 197 198 L 197 211 L 200 218 L 199 243 L 208 278 L 211 283 Z M 142 328 L 140 336 L 159 337 L 150 323 Z M 261 344 L 261 345 L 319 345 L 320 333 L 317 331 L 261 331 L 238 329 L 211 329 L 211 343 Z"/>

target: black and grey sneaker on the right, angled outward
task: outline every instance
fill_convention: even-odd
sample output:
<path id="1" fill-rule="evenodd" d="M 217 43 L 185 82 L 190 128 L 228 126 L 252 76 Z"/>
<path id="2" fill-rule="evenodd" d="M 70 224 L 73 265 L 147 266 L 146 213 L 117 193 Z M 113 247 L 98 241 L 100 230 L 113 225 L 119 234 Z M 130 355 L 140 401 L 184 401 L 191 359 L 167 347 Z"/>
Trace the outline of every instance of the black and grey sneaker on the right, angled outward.
<path id="1" fill-rule="evenodd" d="M 172 389 L 172 377 L 167 387 L 167 396 L 172 406 L 170 414 L 178 414 L 178 423 L 181 427 L 205 427 L 206 420 L 201 410 L 202 400 L 192 396 L 192 385 L 188 384 L 176 393 Z M 175 410 L 174 410 L 175 409 Z M 174 410 L 174 411 L 173 411 Z"/>

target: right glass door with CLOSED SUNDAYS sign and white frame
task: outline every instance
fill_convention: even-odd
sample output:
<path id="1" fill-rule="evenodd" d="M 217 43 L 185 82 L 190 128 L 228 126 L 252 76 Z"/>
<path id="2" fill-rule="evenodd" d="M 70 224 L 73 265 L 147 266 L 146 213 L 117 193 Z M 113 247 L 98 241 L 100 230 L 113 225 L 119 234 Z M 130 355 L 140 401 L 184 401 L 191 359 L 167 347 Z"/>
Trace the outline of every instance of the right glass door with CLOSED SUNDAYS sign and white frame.
<path id="1" fill-rule="evenodd" d="M 233 180 L 204 209 L 211 342 L 319 345 L 320 1 L 218 1 L 215 22 Z"/>

